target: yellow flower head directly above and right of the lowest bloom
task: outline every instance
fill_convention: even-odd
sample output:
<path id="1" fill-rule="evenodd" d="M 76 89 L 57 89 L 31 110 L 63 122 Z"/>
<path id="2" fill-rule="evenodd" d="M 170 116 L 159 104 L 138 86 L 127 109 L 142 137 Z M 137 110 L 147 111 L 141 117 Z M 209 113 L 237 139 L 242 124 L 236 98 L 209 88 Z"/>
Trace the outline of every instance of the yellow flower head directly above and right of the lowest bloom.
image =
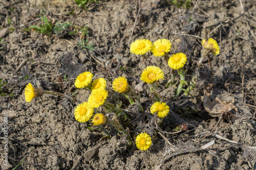
<path id="1" fill-rule="evenodd" d="M 158 117 L 165 117 L 169 113 L 169 106 L 166 103 L 155 102 L 150 107 L 150 112 L 157 113 Z"/>

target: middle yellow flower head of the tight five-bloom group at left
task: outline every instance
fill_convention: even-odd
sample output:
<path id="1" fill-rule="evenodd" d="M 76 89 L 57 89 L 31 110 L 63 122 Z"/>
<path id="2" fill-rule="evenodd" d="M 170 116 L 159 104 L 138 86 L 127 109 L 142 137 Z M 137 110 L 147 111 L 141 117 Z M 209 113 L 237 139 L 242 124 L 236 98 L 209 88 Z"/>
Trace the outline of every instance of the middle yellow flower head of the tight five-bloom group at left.
<path id="1" fill-rule="evenodd" d="M 106 89 L 95 89 L 89 96 L 88 103 L 92 108 L 98 108 L 103 105 L 108 97 L 108 91 Z"/>

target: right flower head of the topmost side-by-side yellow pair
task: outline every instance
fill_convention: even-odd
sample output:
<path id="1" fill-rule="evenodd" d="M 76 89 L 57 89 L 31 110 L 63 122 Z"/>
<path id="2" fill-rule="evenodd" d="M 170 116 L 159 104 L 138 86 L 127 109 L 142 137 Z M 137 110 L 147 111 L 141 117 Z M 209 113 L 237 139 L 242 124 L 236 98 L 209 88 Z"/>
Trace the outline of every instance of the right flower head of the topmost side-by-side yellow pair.
<path id="1" fill-rule="evenodd" d="M 169 40 L 159 39 L 159 40 L 154 42 L 151 52 L 156 57 L 164 56 L 165 53 L 168 53 L 170 51 L 170 46 L 171 45 L 172 45 L 172 43 L 170 43 Z"/>

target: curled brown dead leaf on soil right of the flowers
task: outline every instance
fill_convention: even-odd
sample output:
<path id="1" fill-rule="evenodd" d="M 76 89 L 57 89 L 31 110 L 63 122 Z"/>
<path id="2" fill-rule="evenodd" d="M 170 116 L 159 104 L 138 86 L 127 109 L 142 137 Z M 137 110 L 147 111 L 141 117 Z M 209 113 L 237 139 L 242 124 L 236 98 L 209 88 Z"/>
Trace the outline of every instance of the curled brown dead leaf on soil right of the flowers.
<path id="1" fill-rule="evenodd" d="M 212 117 L 217 117 L 221 113 L 228 113 L 236 106 L 233 105 L 234 100 L 231 102 L 222 101 L 218 97 L 214 100 L 210 100 L 210 89 L 214 87 L 213 84 L 207 84 L 204 88 L 204 109 L 210 113 Z"/>

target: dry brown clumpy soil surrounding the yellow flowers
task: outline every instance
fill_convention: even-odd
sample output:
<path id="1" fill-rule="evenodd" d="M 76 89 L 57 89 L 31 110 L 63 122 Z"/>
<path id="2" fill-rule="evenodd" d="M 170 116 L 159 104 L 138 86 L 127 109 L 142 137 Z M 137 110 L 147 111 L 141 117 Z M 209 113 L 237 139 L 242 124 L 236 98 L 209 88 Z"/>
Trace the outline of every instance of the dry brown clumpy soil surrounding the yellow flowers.
<path id="1" fill-rule="evenodd" d="M 5 93 L 0 96 L 2 146 L 5 112 L 9 123 L 8 165 L 2 161 L 5 151 L 1 147 L 0 169 L 12 169 L 23 158 L 16 169 L 256 169 L 256 3 L 199 0 L 190 1 L 186 8 L 168 1 L 150 0 L 142 1 L 139 10 L 136 2 L 140 1 L 99 1 L 89 3 L 87 10 L 70 0 L 0 2 L 0 36 L 4 42 L 0 43 L 3 85 L 0 92 Z M 72 36 L 24 31 L 31 25 L 40 25 L 42 13 L 55 23 L 70 21 L 80 27 L 87 25 L 90 28 L 87 38 L 95 51 L 81 50 Z M 201 39 L 195 36 L 205 37 L 205 25 L 210 26 L 208 37 L 217 40 L 221 52 L 211 58 L 213 80 L 207 60 L 203 61 L 200 80 L 191 92 L 194 98 L 181 95 L 174 99 L 175 89 L 165 89 L 170 68 L 163 57 L 151 55 L 151 62 L 165 74 L 159 90 L 172 109 L 160 128 L 173 132 L 178 124 L 187 123 L 188 130 L 176 135 L 162 132 L 166 140 L 148 127 L 131 130 L 133 141 L 142 130 L 152 136 L 153 144 L 147 151 L 138 150 L 135 143 L 129 147 L 125 137 L 119 136 L 111 126 L 106 128 L 111 139 L 102 138 L 103 134 L 97 130 L 89 130 L 87 123 L 75 120 L 76 105 L 59 96 L 44 95 L 31 103 L 25 101 L 24 88 L 29 82 L 72 95 L 78 91 L 74 80 L 83 71 L 91 71 L 94 79 L 108 80 L 109 89 L 119 76 L 127 77 L 130 83 L 139 83 L 143 61 L 130 53 L 130 44 L 141 38 L 152 42 L 160 38 L 170 40 L 170 54 L 187 55 L 189 79 L 201 51 Z M 222 101 L 232 102 L 237 111 L 232 110 L 220 120 L 213 133 L 219 136 L 209 135 L 195 142 L 211 131 L 220 118 L 204 109 L 202 89 L 208 83 L 215 84 L 212 99 L 218 96 Z M 144 89 L 142 105 L 150 124 L 154 120 L 148 112 L 152 102 L 148 99 L 147 86 Z M 75 97 L 87 101 L 89 94 L 81 90 Z M 120 100 L 129 113 L 138 112 L 137 108 L 128 106 L 125 98 L 120 96 Z M 214 144 L 201 148 L 212 140 Z"/>

